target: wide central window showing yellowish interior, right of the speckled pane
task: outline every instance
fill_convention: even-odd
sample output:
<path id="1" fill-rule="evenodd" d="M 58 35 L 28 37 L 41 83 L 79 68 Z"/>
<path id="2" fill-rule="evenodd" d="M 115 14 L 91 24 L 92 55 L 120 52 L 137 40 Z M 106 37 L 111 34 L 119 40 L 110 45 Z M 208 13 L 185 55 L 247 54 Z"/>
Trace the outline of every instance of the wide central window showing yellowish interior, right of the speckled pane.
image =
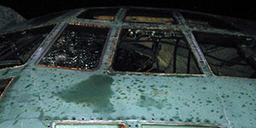
<path id="1" fill-rule="evenodd" d="M 201 73 L 181 32 L 123 29 L 113 70 L 147 73 Z"/>

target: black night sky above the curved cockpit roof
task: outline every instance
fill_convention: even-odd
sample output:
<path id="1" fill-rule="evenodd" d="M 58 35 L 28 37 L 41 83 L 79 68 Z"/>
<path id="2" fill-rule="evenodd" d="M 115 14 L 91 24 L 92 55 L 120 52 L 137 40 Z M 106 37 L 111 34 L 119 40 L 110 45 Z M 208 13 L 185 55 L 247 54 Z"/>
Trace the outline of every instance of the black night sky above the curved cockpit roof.
<path id="1" fill-rule="evenodd" d="M 247 20 L 256 20 L 256 0 L 62 0 L 62 1 L 15 1 L 0 0 L 0 4 L 15 9 L 26 19 L 54 12 L 86 7 L 140 6 L 156 8 L 186 9 L 214 15 L 225 15 Z"/>

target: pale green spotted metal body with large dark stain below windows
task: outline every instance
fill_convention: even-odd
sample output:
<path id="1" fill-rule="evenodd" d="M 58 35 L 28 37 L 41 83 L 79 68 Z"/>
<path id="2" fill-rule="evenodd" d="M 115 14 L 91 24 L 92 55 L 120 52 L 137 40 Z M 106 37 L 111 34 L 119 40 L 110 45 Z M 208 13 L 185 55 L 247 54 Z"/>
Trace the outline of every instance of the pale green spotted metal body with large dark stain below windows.
<path id="1" fill-rule="evenodd" d="M 70 14 L 79 15 L 83 10 Z M 120 21 L 72 20 L 73 15 L 66 15 L 66 20 L 56 26 L 25 66 L 0 70 L 0 79 L 15 78 L 0 102 L 0 127 L 50 127 L 56 120 L 119 120 L 129 127 L 141 127 L 140 124 L 148 122 L 255 127 L 255 79 L 217 77 L 207 73 L 209 69 L 205 68 L 202 69 L 205 75 L 195 76 L 106 73 Z M 119 12 L 117 19 L 122 15 Z M 96 71 L 35 64 L 65 21 L 113 27 Z"/>

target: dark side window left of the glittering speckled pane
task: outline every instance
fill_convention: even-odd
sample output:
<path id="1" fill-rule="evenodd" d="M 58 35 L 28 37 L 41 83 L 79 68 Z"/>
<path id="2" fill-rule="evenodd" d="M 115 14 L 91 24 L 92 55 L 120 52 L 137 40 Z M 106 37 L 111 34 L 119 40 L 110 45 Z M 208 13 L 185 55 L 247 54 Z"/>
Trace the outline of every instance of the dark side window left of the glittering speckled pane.
<path id="1" fill-rule="evenodd" d="M 0 68 L 26 63 L 54 26 L 42 26 L 0 35 Z"/>

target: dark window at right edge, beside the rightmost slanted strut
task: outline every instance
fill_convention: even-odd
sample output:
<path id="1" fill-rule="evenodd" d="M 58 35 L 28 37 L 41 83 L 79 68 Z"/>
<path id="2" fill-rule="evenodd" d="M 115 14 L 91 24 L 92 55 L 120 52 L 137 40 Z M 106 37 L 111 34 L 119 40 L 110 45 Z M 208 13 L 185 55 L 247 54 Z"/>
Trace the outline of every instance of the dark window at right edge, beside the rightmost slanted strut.
<path id="1" fill-rule="evenodd" d="M 256 78 L 256 44 L 253 38 L 193 33 L 214 74 Z"/>

